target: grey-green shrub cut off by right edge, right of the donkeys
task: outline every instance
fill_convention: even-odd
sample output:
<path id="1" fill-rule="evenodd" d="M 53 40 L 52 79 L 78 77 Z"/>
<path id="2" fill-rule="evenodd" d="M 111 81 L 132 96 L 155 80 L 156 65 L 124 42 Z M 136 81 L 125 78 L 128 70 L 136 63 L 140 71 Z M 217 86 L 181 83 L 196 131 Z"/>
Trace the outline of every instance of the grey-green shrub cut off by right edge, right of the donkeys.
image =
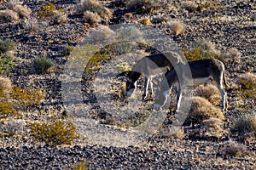
<path id="1" fill-rule="evenodd" d="M 233 133 L 256 133 L 256 112 L 248 112 L 245 115 L 241 116 L 231 128 Z"/>

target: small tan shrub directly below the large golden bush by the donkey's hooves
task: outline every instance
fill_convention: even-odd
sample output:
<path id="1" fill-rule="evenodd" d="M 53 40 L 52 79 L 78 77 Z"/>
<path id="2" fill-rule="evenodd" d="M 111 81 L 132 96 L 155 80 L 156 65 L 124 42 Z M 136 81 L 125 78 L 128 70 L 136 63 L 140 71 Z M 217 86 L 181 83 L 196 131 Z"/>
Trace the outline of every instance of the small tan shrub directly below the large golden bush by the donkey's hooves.
<path id="1" fill-rule="evenodd" d="M 223 125 L 223 121 L 218 118 L 211 117 L 202 122 L 205 128 L 205 135 L 206 136 L 215 136 L 221 137 L 222 132 L 224 131 L 221 127 Z"/>

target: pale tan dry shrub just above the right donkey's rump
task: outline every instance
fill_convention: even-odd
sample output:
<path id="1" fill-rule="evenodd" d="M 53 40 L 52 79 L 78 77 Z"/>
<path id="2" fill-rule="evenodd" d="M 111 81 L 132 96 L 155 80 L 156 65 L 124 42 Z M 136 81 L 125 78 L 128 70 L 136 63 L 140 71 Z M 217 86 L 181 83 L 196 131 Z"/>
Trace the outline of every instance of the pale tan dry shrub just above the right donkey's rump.
<path id="1" fill-rule="evenodd" d="M 230 48 L 221 58 L 225 63 L 240 63 L 241 53 L 236 48 Z"/>

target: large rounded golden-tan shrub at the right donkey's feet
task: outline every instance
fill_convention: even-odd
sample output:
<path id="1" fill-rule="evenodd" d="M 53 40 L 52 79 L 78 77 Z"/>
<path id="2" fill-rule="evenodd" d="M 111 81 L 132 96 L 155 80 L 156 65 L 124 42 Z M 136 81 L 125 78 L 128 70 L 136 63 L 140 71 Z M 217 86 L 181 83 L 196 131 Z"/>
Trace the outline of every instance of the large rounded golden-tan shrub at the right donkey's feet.
<path id="1" fill-rule="evenodd" d="M 190 107 L 188 122 L 201 123 L 209 118 L 218 118 L 224 120 L 223 112 L 214 107 L 207 99 L 201 97 L 194 97 Z"/>

